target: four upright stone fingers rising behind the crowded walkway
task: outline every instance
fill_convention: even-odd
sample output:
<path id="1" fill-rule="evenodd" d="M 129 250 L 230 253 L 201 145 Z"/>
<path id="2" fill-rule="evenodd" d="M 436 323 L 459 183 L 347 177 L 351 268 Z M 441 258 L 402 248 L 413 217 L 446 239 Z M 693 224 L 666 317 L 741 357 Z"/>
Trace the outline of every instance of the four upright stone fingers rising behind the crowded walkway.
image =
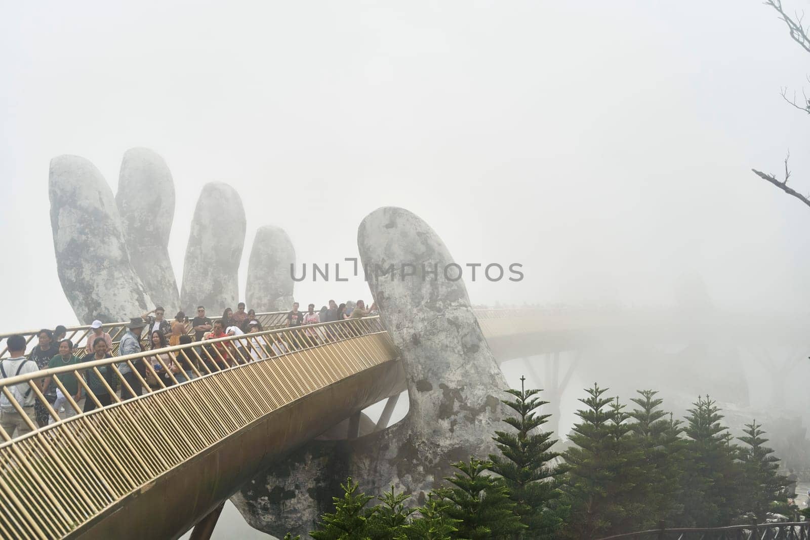
<path id="1" fill-rule="evenodd" d="M 169 317 L 177 309 L 194 313 L 198 304 L 211 315 L 236 307 L 245 210 L 229 185 L 203 186 L 185 253 L 182 297 L 168 257 L 175 189 L 160 155 L 147 148 L 126 151 L 116 198 L 90 161 L 60 155 L 51 159 L 49 198 L 59 280 L 83 324 L 126 321 L 155 304 L 163 305 Z M 281 232 L 263 241 L 261 251 L 254 272 L 280 283 L 264 283 L 257 291 L 249 285 L 247 296 L 284 291 L 287 300 L 292 297 L 292 244 Z M 267 304 L 279 306 L 276 300 L 269 298 Z"/>

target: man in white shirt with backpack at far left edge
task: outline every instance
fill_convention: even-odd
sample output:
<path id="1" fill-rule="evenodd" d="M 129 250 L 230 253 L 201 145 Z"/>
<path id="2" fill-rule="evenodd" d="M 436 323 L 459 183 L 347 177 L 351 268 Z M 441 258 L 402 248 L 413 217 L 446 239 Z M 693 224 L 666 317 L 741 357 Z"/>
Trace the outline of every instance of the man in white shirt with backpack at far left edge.
<path id="1" fill-rule="evenodd" d="M 20 335 L 13 335 L 6 340 L 6 347 L 10 358 L 0 361 L 0 376 L 6 379 L 18 375 L 28 375 L 36 372 L 39 368 L 36 362 L 25 357 L 25 338 Z M 36 384 L 36 383 L 33 383 Z M 36 412 L 34 412 L 35 397 L 28 383 L 19 383 L 8 387 L 9 392 L 23 408 L 23 412 L 28 415 L 31 423 L 28 423 L 22 415 L 17 412 L 5 393 L 0 393 L 0 426 L 11 438 L 23 436 L 32 431 L 31 424 L 36 425 Z"/>

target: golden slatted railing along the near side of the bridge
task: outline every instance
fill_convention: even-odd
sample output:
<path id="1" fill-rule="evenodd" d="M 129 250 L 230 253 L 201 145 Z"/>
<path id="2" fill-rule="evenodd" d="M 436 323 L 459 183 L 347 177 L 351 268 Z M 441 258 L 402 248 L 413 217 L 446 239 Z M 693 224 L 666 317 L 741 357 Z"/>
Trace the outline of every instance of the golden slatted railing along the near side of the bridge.
<path id="1" fill-rule="evenodd" d="M 161 355 L 168 355 L 169 362 Z M 396 355 L 378 318 L 365 317 L 93 359 L 2 379 L 0 392 L 32 432 L 12 439 L 13 433 L 0 428 L 0 538 L 63 538 L 249 423 Z M 139 360 L 156 376 L 156 387 L 135 369 Z M 194 372 L 190 380 L 181 382 L 172 374 L 169 363 L 176 360 Z M 161 380 L 153 362 L 168 381 Z M 113 389 L 115 381 L 132 390 L 119 364 L 137 373 L 146 390 L 142 396 L 122 399 Z M 108 376 L 101 376 L 101 369 Z M 101 406 L 87 385 L 87 372 L 103 383 L 111 405 Z M 96 409 L 80 410 L 58 375 L 75 376 Z M 39 385 L 46 377 L 66 395 L 75 416 L 62 419 L 50 406 Z M 12 385 L 32 389 L 54 422 L 36 427 L 10 391 Z"/>

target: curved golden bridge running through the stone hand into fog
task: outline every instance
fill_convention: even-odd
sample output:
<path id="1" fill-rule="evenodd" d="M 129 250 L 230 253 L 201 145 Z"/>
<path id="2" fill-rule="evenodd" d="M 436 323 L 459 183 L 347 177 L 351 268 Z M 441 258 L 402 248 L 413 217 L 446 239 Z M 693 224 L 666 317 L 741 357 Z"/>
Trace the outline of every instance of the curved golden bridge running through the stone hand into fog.
<path id="1" fill-rule="evenodd" d="M 662 327 L 673 330 L 671 321 L 654 317 L 591 321 L 546 310 L 477 310 L 476 315 L 499 361 L 549 347 L 561 350 L 573 334 L 582 340 L 583 335 L 598 339 L 599 333 L 622 338 L 631 327 L 650 334 Z M 138 531 L 140 538 L 178 538 L 274 460 L 389 398 L 377 424 L 386 427 L 405 381 L 399 353 L 379 318 L 283 328 L 285 316 L 258 314 L 269 330 L 255 334 L 0 380 L 0 391 L 32 430 L 12 439 L 0 428 L 0 537 L 130 538 Z M 124 329 L 123 323 L 104 325 L 113 349 Z M 68 329 L 66 338 L 81 344 L 90 333 L 88 326 L 78 326 Z M 22 334 L 31 342 L 36 330 Z M 177 381 L 166 353 L 195 376 Z M 233 365 L 216 368 L 225 356 Z M 157 385 L 148 385 L 135 369 L 142 359 Z M 143 395 L 120 397 L 117 388 L 131 388 L 119 364 L 137 374 Z M 157 376 L 153 364 L 160 364 L 171 384 Z M 85 372 L 104 385 L 109 406 L 96 398 Z M 75 376 L 96 409 L 83 413 L 57 375 Z M 44 377 L 52 377 L 76 415 L 62 419 L 53 410 L 37 385 Z M 37 427 L 28 419 L 10 390 L 14 385 L 32 389 L 53 423 Z M 207 538 L 207 526 L 196 538 Z"/>

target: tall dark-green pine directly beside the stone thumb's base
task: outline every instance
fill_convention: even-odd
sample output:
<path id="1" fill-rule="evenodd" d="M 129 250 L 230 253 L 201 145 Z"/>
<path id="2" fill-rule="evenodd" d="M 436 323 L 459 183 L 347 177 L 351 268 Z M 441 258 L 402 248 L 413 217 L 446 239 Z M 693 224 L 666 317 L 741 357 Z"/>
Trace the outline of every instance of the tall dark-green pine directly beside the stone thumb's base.
<path id="1" fill-rule="evenodd" d="M 520 389 L 509 389 L 514 399 L 502 402 L 514 410 L 514 415 L 503 421 L 516 433 L 495 432 L 492 439 L 497 443 L 500 455 L 490 454 L 489 470 L 500 474 L 509 490 L 509 499 L 514 502 L 514 512 L 527 529 L 525 538 L 554 538 L 560 528 L 561 512 L 552 501 L 560 495 L 556 478 L 563 472 L 561 467 L 549 462 L 560 454 L 552 452 L 556 443 L 552 432 L 543 432 L 539 427 L 551 415 L 537 415 L 535 410 L 548 402 L 541 401 L 540 390 L 526 389 L 526 378 L 520 378 Z"/>

